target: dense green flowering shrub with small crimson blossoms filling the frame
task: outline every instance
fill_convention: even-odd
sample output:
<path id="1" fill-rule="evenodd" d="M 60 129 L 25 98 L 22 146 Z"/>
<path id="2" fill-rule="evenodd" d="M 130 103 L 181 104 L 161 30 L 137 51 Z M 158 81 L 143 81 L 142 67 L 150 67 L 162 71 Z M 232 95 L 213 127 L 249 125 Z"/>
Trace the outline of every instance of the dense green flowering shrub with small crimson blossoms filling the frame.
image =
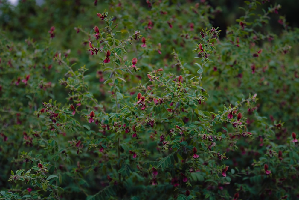
<path id="1" fill-rule="evenodd" d="M 263 30 L 280 5 L 246 1 L 219 39 L 205 1 L 128 2 L 76 26 L 82 48 L 1 33 L 0 199 L 298 197 L 299 31 Z"/>

